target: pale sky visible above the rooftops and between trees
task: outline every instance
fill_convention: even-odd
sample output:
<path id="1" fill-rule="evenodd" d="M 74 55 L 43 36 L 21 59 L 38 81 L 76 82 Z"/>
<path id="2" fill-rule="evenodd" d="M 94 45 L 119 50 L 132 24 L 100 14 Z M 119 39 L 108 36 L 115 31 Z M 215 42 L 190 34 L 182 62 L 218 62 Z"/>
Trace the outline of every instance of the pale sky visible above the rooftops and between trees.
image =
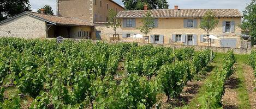
<path id="1" fill-rule="evenodd" d="M 86 0 L 85 0 L 86 1 Z M 88 1 L 88 0 L 87 0 Z M 122 0 L 114 0 L 123 6 Z M 178 5 L 180 9 L 239 9 L 245 10 L 247 3 L 251 0 L 167 0 L 169 9 L 173 9 L 174 5 Z M 29 0 L 32 10 L 37 11 L 38 8 L 48 4 L 52 7 L 56 14 L 56 0 Z"/>

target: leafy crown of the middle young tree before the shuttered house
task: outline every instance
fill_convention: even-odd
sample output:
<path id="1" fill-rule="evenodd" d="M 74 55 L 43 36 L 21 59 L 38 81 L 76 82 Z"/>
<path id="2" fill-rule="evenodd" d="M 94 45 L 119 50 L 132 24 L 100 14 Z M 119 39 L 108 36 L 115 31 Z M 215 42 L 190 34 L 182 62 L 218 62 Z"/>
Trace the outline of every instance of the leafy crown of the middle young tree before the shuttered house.
<path id="1" fill-rule="evenodd" d="M 151 17 L 150 12 L 147 12 L 141 22 L 142 25 L 137 29 L 139 29 L 141 33 L 144 33 L 147 36 L 147 34 L 150 33 L 151 29 L 154 28 L 154 18 Z"/>

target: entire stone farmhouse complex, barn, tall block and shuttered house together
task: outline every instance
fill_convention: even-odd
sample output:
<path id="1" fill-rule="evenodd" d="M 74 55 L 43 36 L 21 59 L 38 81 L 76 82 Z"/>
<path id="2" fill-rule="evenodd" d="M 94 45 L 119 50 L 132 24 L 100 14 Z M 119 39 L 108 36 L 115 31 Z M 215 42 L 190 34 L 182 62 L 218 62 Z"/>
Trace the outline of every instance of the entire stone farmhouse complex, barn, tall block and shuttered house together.
<path id="1" fill-rule="evenodd" d="M 240 47 L 242 30 L 239 27 L 243 15 L 238 9 L 158 9 L 124 10 L 112 0 L 58 0 L 57 15 L 23 12 L 0 22 L 0 36 L 25 38 L 54 38 L 113 40 L 114 30 L 107 28 L 108 10 L 118 12 L 122 22 L 117 29 L 121 41 L 137 41 L 159 44 L 186 44 L 204 46 L 206 32 L 199 28 L 207 11 L 212 11 L 219 21 L 210 34 L 221 40 L 212 40 L 215 47 Z M 154 29 L 146 39 L 134 39 L 142 34 L 137 29 L 147 12 L 154 17 Z M 144 34 L 142 34 L 144 35 Z"/>

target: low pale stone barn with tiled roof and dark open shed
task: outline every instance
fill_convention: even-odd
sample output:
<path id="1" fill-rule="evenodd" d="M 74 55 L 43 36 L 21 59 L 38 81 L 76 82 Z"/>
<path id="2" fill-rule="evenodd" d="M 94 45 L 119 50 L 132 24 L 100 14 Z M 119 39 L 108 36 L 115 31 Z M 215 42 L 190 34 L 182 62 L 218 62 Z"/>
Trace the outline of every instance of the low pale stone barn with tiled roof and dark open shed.
<path id="1" fill-rule="evenodd" d="M 23 12 L 0 22 L 1 37 L 91 39 L 93 24 L 78 18 Z"/>

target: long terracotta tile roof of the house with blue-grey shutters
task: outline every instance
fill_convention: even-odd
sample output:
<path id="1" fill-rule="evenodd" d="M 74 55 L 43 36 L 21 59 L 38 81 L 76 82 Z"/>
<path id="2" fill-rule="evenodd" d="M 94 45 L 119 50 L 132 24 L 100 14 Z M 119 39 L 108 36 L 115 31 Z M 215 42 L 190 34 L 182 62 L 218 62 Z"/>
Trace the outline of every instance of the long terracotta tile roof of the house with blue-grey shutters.
<path id="1" fill-rule="evenodd" d="M 120 11 L 116 15 L 116 18 L 144 17 L 147 12 L 150 12 L 152 17 L 158 18 L 197 18 L 204 17 L 207 11 L 212 11 L 215 13 L 216 17 L 243 17 L 238 9 L 157 9 Z"/>

